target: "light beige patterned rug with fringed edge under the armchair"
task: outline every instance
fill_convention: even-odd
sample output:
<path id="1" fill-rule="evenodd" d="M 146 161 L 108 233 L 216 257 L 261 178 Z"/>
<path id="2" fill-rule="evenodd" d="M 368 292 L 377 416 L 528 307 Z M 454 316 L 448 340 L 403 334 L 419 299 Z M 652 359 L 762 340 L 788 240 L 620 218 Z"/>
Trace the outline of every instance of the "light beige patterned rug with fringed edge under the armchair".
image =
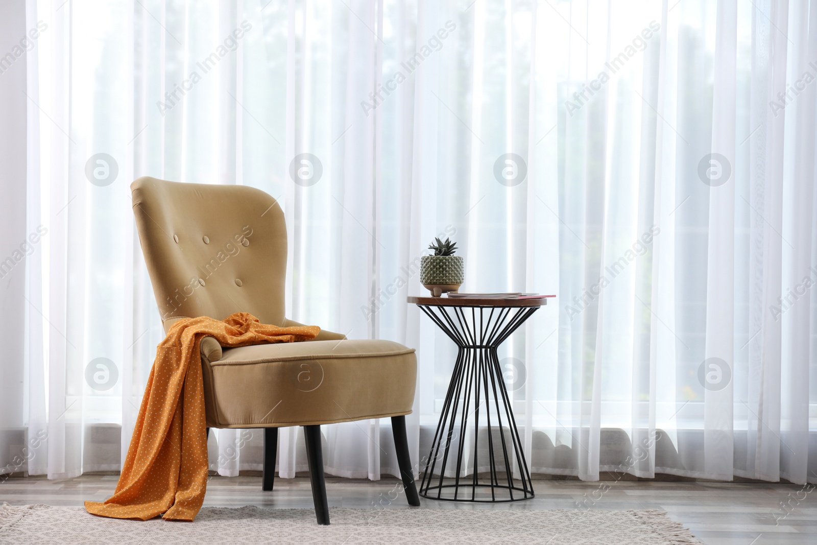
<path id="1" fill-rule="evenodd" d="M 663 511 L 558 509 L 330 510 L 204 507 L 194 522 L 116 520 L 82 507 L 0 507 L 0 543 L 547 543 L 548 545 L 701 543 Z"/>

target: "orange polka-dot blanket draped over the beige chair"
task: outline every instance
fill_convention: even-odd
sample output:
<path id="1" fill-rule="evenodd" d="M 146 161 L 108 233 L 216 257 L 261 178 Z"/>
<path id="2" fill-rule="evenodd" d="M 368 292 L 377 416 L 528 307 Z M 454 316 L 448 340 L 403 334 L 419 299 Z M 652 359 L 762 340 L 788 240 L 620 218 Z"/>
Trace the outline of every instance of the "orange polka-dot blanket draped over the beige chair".
<path id="1" fill-rule="evenodd" d="M 199 342 L 222 346 L 296 342 L 315 338 L 317 326 L 279 328 L 246 312 L 224 321 L 181 319 L 156 348 L 131 445 L 114 495 L 86 502 L 89 513 L 118 519 L 193 520 L 207 487 L 207 432 Z M 123 392 L 123 395 L 127 395 Z"/>

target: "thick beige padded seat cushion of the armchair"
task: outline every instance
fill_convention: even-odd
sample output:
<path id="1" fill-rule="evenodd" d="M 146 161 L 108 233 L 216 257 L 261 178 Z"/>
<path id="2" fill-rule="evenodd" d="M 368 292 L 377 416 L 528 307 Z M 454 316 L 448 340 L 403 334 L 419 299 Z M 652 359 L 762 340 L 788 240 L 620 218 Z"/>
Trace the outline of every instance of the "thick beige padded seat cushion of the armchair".
<path id="1" fill-rule="evenodd" d="M 204 359 L 208 427 L 284 427 L 411 413 L 417 357 L 361 339 L 224 348 Z"/>

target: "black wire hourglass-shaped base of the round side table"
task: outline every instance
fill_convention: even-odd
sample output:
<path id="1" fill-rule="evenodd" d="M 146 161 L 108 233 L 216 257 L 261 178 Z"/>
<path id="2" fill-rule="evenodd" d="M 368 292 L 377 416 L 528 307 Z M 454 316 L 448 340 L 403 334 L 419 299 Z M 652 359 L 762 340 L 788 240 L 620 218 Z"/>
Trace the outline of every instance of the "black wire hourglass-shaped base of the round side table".
<path id="1" fill-rule="evenodd" d="M 497 348 L 539 307 L 418 306 L 458 346 L 420 494 L 457 502 L 533 498 Z M 446 477 L 446 470 L 453 470 L 453 477 Z"/>

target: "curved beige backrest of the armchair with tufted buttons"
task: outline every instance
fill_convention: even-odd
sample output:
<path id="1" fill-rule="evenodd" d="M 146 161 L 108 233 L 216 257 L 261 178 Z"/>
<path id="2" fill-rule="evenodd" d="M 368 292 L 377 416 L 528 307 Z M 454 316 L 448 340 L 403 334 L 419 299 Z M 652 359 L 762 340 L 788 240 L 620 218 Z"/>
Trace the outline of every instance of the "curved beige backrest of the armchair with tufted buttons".
<path id="1" fill-rule="evenodd" d="M 245 185 L 147 176 L 133 213 L 162 321 L 249 312 L 282 325 L 287 228 L 270 195 Z"/>

